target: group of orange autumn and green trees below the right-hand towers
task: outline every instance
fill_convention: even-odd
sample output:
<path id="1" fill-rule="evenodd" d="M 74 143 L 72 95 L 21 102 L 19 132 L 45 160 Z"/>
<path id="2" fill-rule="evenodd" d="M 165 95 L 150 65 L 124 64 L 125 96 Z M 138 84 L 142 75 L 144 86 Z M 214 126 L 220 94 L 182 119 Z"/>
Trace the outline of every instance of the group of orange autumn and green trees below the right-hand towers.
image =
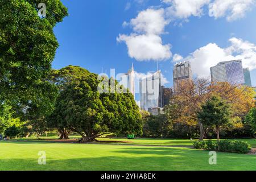
<path id="1" fill-rule="evenodd" d="M 254 137 L 253 88 L 197 78 L 179 86 L 163 114 L 147 117 L 146 137 Z M 159 133 L 160 132 L 160 133 Z"/>

